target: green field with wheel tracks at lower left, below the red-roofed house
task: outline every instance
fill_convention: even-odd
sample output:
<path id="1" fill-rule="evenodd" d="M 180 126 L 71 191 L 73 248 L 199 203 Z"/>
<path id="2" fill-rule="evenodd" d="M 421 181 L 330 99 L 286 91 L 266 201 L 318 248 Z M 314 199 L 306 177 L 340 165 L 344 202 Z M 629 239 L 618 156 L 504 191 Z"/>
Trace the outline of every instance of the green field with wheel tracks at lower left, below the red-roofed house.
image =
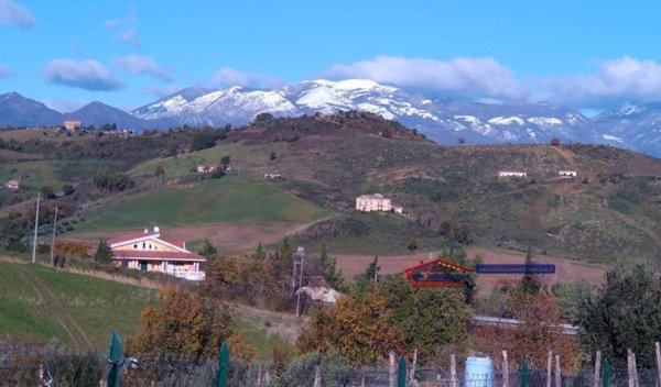
<path id="1" fill-rule="evenodd" d="M 106 347 L 111 330 L 133 334 L 140 311 L 155 302 L 155 290 L 0 262 L 1 335 Z"/>

